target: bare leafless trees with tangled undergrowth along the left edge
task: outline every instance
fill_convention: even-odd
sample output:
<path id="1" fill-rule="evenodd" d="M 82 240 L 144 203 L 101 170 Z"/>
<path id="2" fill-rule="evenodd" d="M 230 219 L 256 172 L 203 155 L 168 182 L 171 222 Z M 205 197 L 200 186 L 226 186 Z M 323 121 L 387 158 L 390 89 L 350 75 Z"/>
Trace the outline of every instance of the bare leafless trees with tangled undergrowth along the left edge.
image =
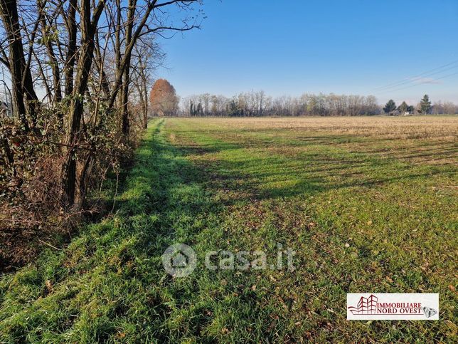
<path id="1" fill-rule="evenodd" d="M 147 126 L 158 38 L 197 28 L 201 1 L 0 0 L 0 17 L 0 207 L 79 212 Z"/>

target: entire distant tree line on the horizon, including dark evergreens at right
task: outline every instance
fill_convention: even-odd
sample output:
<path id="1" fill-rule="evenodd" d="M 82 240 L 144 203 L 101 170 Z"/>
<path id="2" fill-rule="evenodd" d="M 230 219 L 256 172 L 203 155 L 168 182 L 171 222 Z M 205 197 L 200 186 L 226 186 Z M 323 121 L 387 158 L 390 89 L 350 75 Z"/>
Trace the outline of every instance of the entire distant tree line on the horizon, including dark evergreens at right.
<path id="1" fill-rule="evenodd" d="M 175 93 L 174 99 L 177 99 Z M 154 102 L 154 99 L 151 98 L 151 102 Z M 174 106 L 176 108 L 177 105 Z M 452 102 L 442 103 L 441 101 L 432 104 L 427 95 L 416 106 L 405 102 L 398 106 L 394 100 L 389 100 L 382 107 L 373 95 L 305 93 L 299 97 L 283 95 L 272 98 L 264 91 L 252 91 L 231 98 L 209 93 L 189 95 L 181 99 L 179 109 L 176 110 L 177 115 L 191 117 L 358 116 L 383 113 L 389 115 L 455 114 L 458 113 L 458 106 Z M 161 113 L 153 111 L 153 115 L 161 115 Z"/>

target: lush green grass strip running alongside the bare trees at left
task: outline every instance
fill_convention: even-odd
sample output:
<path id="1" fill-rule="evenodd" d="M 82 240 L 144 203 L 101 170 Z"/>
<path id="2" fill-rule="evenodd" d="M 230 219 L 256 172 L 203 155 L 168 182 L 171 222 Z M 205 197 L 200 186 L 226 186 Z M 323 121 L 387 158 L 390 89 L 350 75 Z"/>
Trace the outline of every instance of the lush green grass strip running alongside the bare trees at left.
<path id="1" fill-rule="evenodd" d="M 186 313 L 201 307 L 199 286 L 172 281 L 161 254 L 175 241 L 198 241 L 219 209 L 198 170 L 164 141 L 163 125 L 139 147 L 115 216 L 2 278 L 0 342 L 164 341 L 192 328 Z"/>

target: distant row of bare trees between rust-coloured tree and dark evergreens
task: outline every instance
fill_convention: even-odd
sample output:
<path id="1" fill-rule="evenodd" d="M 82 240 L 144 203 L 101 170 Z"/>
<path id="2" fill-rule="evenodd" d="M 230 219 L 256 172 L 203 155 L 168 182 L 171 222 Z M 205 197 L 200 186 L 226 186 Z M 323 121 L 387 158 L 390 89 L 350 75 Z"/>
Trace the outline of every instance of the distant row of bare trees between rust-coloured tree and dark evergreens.
<path id="1" fill-rule="evenodd" d="M 247 92 L 227 98 L 224 95 L 191 95 L 181 101 L 185 116 L 353 116 L 378 115 L 381 109 L 373 95 L 304 94 L 272 98 L 264 91 Z"/>

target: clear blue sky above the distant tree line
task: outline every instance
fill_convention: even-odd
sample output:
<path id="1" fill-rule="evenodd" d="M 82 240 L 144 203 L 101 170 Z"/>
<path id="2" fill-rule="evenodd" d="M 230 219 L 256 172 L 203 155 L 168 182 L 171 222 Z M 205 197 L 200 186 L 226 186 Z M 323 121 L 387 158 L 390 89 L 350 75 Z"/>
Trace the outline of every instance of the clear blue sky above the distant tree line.
<path id="1" fill-rule="evenodd" d="M 201 30 L 163 41 L 167 68 L 157 76 L 179 95 L 265 90 L 417 103 L 427 93 L 458 103 L 457 0 L 205 0 L 203 11 Z"/>

